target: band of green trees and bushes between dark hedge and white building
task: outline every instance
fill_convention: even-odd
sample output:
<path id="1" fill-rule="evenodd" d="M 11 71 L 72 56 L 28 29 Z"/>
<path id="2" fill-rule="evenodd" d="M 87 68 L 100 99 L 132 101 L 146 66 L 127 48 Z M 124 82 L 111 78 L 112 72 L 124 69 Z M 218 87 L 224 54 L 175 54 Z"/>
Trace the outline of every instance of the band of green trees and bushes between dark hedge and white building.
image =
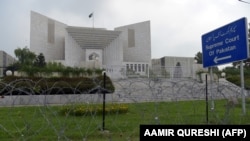
<path id="1" fill-rule="evenodd" d="M 46 74 L 51 76 L 53 72 L 59 73 L 64 77 L 80 77 L 101 75 L 102 69 L 85 69 L 79 67 L 66 67 L 61 63 L 45 62 L 43 53 L 38 56 L 31 52 L 27 47 L 15 50 L 18 62 L 9 66 L 11 70 L 17 70 L 26 73 L 28 76 L 40 76 Z"/>

